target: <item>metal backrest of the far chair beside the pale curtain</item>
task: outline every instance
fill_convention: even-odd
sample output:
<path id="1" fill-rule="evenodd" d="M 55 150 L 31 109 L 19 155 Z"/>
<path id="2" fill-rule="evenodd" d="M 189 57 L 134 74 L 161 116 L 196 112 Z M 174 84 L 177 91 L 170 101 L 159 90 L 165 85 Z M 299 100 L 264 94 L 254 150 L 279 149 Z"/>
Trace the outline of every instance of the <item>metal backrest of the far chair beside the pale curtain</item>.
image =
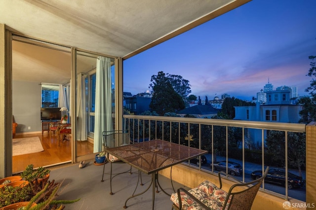
<path id="1" fill-rule="evenodd" d="M 128 130 L 103 131 L 102 136 L 106 148 L 127 145 L 130 143 Z"/>

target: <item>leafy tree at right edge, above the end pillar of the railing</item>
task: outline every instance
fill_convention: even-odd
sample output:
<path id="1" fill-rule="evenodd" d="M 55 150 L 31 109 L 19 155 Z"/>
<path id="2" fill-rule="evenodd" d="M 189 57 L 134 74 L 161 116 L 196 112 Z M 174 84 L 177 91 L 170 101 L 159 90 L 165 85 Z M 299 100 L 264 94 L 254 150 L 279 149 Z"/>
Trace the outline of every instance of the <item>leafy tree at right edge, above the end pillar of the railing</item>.
<path id="1" fill-rule="evenodd" d="M 299 100 L 299 104 L 303 105 L 303 109 L 300 111 L 301 119 L 299 122 L 308 124 L 312 121 L 316 121 L 316 56 L 309 56 L 311 59 L 311 68 L 307 76 L 314 77 L 311 80 L 311 86 L 306 88 L 305 91 L 311 94 L 311 98 L 303 97 Z"/>

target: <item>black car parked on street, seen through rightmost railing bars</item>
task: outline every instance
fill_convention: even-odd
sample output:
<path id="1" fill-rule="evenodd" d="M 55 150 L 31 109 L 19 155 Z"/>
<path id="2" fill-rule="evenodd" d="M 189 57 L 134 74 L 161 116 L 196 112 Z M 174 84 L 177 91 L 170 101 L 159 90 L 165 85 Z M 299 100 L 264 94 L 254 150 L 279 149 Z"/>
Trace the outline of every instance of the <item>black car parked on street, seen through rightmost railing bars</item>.
<path id="1" fill-rule="evenodd" d="M 251 173 L 252 179 L 257 179 L 262 176 L 262 171 L 254 171 Z M 287 173 L 287 188 L 299 188 L 304 186 L 302 177 Z M 281 169 L 270 169 L 268 175 L 265 178 L 266 182 L 285 186 L 285 171 Z"/>

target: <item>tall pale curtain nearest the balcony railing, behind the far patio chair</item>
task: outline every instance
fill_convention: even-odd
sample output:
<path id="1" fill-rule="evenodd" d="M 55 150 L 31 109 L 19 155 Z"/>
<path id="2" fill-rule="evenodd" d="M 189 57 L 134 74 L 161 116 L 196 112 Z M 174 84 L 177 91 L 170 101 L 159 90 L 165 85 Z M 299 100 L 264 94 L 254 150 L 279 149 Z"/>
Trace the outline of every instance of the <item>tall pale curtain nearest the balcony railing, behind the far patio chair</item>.
<path id="1" fill-rule="evenodd" d="M 97 60 L 93 152 L 102 150 L 102 132 L 112 131 L 111 59 Z"/>

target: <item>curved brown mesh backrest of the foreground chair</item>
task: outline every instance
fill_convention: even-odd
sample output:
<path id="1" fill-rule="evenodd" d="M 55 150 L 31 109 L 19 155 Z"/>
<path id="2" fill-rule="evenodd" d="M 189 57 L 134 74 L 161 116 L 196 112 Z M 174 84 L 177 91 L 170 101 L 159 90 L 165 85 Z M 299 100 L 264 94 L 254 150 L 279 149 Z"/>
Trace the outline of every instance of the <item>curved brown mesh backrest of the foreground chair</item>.
<path id="1" fill-rule="evenodd" d="M 268 174 L 269 167 L 265 170 L 265 173 L 258 179 L 253 181 L 245 182 L 245 183 L 238 183 L 231 186 L 228 191 L 228 195 L 226 197 L 223 210 L 228 205 L 228 210 L 250 210 L 252 203 L 257 195 L 257 192 L 260 188 L 260 185 L 266 175 Z M 236 187 L 248 186 L 245 190 L 236 192 Z M 235 191 L 234 191 L 235 189 Z"/>

